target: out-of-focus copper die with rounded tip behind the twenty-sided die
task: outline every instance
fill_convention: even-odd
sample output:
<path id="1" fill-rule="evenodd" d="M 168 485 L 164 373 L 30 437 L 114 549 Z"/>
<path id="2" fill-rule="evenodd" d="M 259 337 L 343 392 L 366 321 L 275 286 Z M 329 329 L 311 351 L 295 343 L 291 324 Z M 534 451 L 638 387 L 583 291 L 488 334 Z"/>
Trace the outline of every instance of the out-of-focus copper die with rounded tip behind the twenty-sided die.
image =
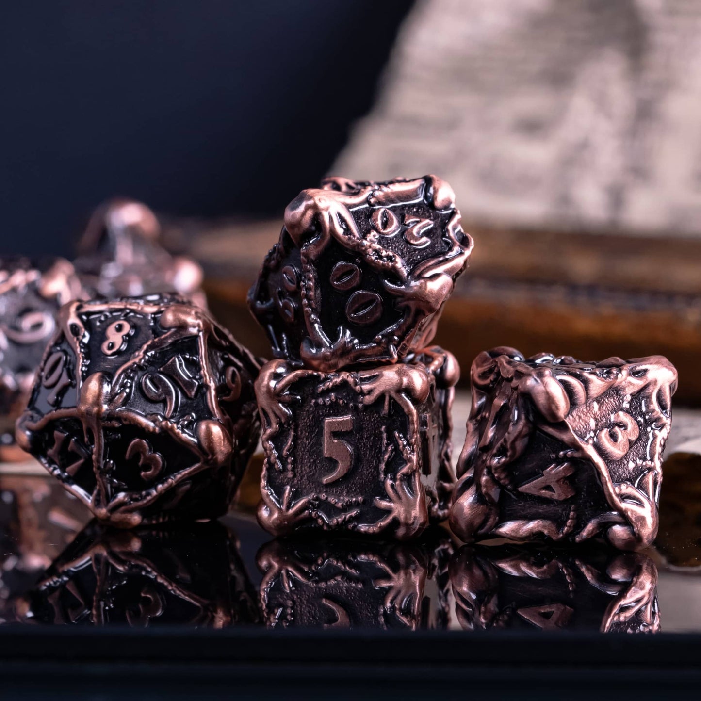
<path id="1" fill-rule="evenodd" d="M 75 265 L 93 296 L 139 296 L 178 292 L 206 306 L 202 268 L 173 257 L 159 243 L 161 225 L 149 207 L 111 200 L 95 210 L 76 246 Z"/>

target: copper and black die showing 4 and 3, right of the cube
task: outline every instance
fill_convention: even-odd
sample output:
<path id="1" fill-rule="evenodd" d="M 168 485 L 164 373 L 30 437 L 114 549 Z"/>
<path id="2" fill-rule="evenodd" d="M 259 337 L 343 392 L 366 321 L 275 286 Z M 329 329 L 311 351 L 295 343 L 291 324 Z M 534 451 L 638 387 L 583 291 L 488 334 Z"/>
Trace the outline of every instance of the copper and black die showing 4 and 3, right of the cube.
<path id="1" fill-rule="evenodd" d="M 451 528 L 463 540 L 638 550 L 658 529 L 676 370 L 666 358 L 583 363 L 513 348 L 472 363 L 472 411 Z"/>

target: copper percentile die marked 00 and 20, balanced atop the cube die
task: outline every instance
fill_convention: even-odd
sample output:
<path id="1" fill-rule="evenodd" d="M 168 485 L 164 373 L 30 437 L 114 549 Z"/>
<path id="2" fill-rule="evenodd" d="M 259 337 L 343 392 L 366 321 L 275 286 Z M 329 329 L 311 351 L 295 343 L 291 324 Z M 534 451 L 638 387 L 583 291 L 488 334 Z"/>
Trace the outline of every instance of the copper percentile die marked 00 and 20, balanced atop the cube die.
<path id="1" fill-rule="evenodd" d="M 275 357 L 331 372 L 428 345 L 472 251 L 460 219 L 434 175 L 302 191 L 249 295 Z"/>

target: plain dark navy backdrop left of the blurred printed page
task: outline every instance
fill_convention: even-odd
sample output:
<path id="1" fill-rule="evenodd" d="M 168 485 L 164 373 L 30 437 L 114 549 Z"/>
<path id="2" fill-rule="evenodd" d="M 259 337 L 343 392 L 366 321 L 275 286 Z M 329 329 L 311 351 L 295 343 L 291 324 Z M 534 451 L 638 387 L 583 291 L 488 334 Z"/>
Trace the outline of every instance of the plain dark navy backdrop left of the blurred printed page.
<path id="1" fill-rule="evenodd" d="M 280 214 L 367 111 L 406 0 L 0 8 L 0 255 L 70 254 L 114 195 Z"/>

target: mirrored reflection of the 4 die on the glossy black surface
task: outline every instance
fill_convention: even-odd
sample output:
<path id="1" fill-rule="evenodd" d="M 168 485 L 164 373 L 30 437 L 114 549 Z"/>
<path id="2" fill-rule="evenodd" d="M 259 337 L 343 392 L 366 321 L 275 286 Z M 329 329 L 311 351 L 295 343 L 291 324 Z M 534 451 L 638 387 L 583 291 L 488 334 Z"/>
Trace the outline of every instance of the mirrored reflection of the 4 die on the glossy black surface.
<path id="1" fill-rule="evenodd" d="M 451 560 L 450 581 L 468 630 L 660 630 L 658 572 L 642 553 L 464 545 Z"/>

